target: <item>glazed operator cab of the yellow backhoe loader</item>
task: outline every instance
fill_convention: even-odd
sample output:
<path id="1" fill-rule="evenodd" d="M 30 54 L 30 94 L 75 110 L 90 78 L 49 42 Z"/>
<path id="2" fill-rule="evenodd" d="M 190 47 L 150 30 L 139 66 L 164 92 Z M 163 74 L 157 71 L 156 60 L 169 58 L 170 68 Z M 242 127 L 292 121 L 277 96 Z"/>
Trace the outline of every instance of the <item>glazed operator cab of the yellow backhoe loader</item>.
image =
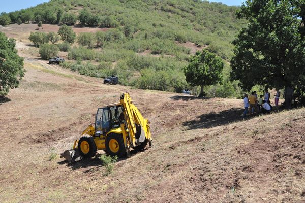
<path id="1" fill-rule="evenodd" d="M 104 135 L 111 129 L 120 127 L 119 116 L 123 112 L 123 107 L 118 104 L 99 108 L 96 114 L 96 136 Z"/>

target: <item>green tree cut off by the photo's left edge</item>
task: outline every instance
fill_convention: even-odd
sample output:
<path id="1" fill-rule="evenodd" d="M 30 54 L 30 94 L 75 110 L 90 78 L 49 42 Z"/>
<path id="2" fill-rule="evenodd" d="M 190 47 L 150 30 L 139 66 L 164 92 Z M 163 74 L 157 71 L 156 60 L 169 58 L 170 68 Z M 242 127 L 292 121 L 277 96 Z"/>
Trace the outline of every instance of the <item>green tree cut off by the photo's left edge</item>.
<path id="1" fill-rule="evenodd" d="M 8 39 L 0 32 L 0 95 L 17 88 L 24 76 L 23 58 L 18 56 L 15 45 L 14 39 Z"/>

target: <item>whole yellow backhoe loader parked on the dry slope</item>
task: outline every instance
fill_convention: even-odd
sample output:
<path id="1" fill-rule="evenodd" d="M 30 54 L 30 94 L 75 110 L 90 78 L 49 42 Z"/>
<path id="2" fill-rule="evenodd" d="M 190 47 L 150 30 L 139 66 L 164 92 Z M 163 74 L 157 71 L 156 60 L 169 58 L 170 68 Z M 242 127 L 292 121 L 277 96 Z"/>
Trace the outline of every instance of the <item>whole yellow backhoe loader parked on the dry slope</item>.
<path id="1" fill-rule="evenodd" d="M 109 155 L 130 155 L 130 148 L 142 150 L 147 143 L 152 145 L 149 121 L 143 118 L 133 104 L 129 93 L 120 97 L 120 102 L 99 108 L 95 123 L 89 125 L 81 138 L 74 141 L 73 150 L 66 150 L 61 157 L 69 162 L 95 156 L 97 150 Z"/>

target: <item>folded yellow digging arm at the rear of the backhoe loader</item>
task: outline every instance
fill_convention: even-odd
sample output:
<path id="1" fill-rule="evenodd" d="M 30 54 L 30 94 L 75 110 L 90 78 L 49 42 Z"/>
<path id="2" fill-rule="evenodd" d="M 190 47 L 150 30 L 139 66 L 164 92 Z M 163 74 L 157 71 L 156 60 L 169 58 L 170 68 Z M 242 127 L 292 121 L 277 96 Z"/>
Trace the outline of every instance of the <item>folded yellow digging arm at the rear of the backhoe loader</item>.
<path id="1" fill-rule="evenodd" d="M 142 116 L 139 109 L 133 104 L 129 93 L 124 93 L 121 95 L 120 103 L 123 105 L 126 128 L 128 129 L 126 131 L 129 134 L 129 139 L 132 146 L 137 146 L 144 142 L 145 138 L 150 143 L 152 139 L 149 121 Z"/>

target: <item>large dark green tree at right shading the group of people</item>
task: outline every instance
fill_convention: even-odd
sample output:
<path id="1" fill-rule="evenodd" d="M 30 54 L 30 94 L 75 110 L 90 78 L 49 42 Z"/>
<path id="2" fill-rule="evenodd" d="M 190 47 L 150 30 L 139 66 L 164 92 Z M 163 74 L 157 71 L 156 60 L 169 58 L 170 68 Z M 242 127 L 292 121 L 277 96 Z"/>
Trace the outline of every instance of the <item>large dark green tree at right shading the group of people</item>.
<path id="1" fill-rule="evenodd" d="M 305 92 L 305 4 L 247 0 L 237 13 L 249 21 L 233 41 L 231 78 L 244 89 L 254 85 L 293 87 Z"/>

